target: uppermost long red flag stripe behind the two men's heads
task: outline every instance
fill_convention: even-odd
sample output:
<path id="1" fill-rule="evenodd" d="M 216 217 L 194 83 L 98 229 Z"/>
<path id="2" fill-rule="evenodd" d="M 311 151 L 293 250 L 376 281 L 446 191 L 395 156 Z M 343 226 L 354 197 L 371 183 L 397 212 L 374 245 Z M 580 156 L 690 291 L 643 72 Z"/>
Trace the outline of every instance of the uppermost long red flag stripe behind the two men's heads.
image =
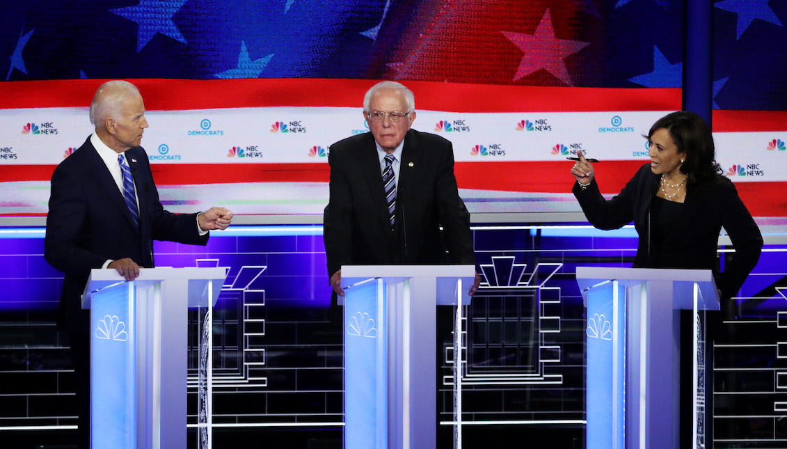
<path id="1" fill-rule="evenodd" d="M 87 107 L 105 80 L 0 83 L 0 109 Z M 131 80 L 146 109 L 218 109 L 276 106 L 357 107 L 375 80 Z M 675 110 L 680 89 L 532 87 L 408 81 L 418 109 L 447 112 L 565 112 Z"/>

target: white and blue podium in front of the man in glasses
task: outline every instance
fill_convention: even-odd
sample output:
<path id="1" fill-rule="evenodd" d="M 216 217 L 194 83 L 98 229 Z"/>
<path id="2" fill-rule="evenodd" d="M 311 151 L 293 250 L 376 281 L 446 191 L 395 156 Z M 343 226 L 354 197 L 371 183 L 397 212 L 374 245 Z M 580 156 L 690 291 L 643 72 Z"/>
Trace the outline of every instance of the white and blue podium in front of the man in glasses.
<path id="1" fill-rule="evenodd" d="M 342 266 L 346 449 L 436 446 L 438 305 L 457 306 L 453 406 L 460 422 L 464 358 L 456 348 L 474 281 L 474 265 Z"/>

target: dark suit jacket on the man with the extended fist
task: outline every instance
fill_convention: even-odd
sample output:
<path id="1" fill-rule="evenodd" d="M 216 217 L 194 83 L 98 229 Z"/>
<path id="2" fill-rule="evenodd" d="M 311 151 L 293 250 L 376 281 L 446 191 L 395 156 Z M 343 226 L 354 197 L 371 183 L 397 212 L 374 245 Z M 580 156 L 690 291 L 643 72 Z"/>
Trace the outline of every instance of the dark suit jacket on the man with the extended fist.
<path id="1" fill-rule="evenodd" d="M 196 213 L 176 215 L 161 206 L 145 150 L 131 148 L 125 156 L 139 197 L 139 230 L 90 138 L 52 175 L 44 257 L 65 273 L 58 324 L 69 332 L 89 332 L 90 314 L 81 309 L 80 296 L 91 269 L 120 258 L 153 267 L 153 239 L 201 245 L 208 241 L 207 235 L 199 235 Z"/>

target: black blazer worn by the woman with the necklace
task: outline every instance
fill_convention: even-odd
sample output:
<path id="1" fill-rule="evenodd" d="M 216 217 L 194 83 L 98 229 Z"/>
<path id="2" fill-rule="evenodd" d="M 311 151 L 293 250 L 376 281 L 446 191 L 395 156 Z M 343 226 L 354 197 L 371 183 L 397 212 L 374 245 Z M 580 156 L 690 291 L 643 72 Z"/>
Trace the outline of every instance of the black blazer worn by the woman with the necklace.
<path id="1" fill-rule="evenodd" d="M 634 268 L 712 269 L 722 299 L 730 299 L 754 269 L 763 247 L 763 236 L 732 181 L 715 176 L 708 185 L 687 189 L 678 224 L 667 232 L 660 247 L 651 248 L 649 211 L 659 182 L 660 175 L 652 173 L 648 163 L 609 201 L 601 196 L 595 180 L 584 191 L 575 183 L 572 191 L 585 217 L 596 228 L 617 229 L 634 221 L 639 235 Z M 732 240 L 735 254 L 724 273 L 719 273 L 716 247 L 722 226 Z M 661 262 L 656 261 L 654 254 L 660 254 Z"/>

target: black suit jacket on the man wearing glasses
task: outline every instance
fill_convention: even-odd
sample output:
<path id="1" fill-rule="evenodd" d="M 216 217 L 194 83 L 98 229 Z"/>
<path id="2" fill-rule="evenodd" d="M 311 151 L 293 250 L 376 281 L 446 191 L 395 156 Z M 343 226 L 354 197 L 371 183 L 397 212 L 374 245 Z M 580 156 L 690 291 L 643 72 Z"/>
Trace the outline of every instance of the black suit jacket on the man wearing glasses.
<path id="1" fill-rule="evenodd" d="M 331 145 L 328 162 L 328 276 L 342 265 L 475 265 L 470 213 L 459 197 L 448 140 L 412 129 L 405 135 L 393 232 L 371 132 Z"/>

